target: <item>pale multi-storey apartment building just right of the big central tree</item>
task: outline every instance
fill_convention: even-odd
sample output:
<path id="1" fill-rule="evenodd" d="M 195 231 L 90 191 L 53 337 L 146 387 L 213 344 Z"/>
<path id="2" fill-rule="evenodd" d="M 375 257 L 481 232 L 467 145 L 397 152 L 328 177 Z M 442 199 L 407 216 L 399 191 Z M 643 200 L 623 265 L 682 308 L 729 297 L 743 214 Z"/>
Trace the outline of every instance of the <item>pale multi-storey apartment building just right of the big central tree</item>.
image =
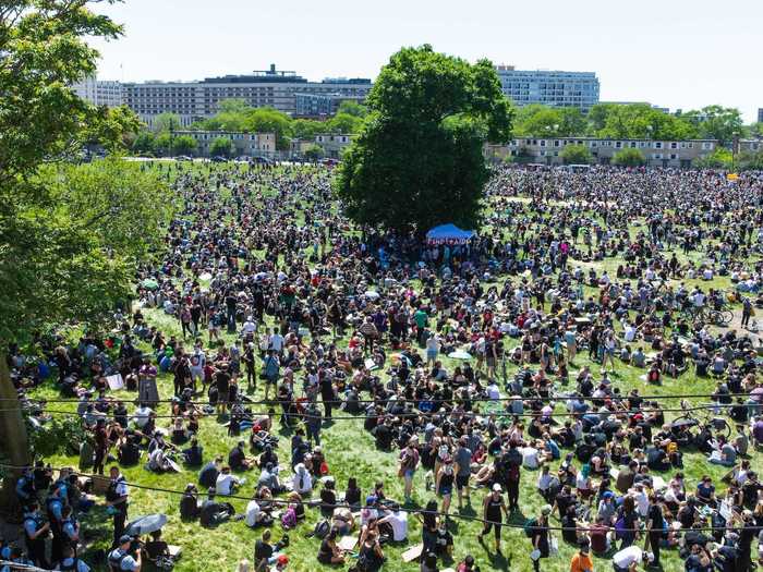
<path id="1" fill-rule="evenodd" d="M 598 104 L 598 78 L 594 72 L 522 71 L 513 65 L 497 65 L 496 73 L 504 93 L 520 107 L 577 107 L 585 113 Z"/>

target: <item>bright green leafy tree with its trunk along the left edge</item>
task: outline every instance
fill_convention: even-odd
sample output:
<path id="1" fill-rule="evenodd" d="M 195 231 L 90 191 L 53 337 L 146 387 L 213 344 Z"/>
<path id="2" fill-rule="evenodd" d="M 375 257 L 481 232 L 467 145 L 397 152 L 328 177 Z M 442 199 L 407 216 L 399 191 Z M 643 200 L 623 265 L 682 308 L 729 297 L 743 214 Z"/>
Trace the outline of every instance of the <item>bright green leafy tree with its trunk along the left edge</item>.
<path id="1" fill-rule="evenodd" d="M 85 38 L 120 34 L 86 0 L 14 0 L 0 8 L 0 348 L 49 324 L 102 315 L 129 285 L 135 253 L 122 251 L 121 239 L 106 240 L 113 239 L 112 224 L 121 228 L 118 220 L 140 223 L 126 197 L 140 168 L 120 175 L 119 190 L 109 186 L 105 196 L 124 202 L 107 206 L 90 202 L 89 193 L 102 187 L 88 185 L 83 196 L 72 168 L 55 167 L 89 142 L 117 150 L 125 133 L 138 130 L 133 113 L 89 105 L 70 87 L 96 72 L 98 53 Z M 158 184 L 141 185 L 154 191 L 146 198 Z M 0 398 L 7 400 L 0 448 L 14 464 L 26 464 L 26 431 L 1 350 Z M 12 496 L 13 487 L 3 490 Z"/>

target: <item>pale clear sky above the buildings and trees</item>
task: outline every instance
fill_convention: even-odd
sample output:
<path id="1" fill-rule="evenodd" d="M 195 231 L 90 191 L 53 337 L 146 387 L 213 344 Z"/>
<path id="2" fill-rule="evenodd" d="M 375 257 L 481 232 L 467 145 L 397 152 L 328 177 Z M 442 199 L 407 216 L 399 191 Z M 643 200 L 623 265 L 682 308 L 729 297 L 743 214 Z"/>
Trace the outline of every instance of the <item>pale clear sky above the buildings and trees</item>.
<path id="1" fill-rule="evenodd" d="M 607 0 L 535 3 L 387 0 L 379 5 L 245 0 L 126 0 L 94 4 L 124 36 L 93 40 L 98 77 L 194 81 L 270 63 L 308 80 L 375 78 L 402 46 L 432 44 L 469 61 L 518 70 L 595 72 L 603 101 L 689 110 L 763 107 L 763 2 Z"/>

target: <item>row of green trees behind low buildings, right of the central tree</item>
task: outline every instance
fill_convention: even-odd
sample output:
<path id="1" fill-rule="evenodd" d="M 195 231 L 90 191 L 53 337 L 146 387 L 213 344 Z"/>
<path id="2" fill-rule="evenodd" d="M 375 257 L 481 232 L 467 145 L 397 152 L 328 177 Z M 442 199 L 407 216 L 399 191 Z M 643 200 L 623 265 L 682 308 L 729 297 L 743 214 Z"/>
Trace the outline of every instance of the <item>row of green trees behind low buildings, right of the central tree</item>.
<path id="1" fill-rule="evenodd" d="M 583 115 L 577 108 L 532 105 L 517 110 L 514 136 L 592 136 L 615 139 L 717 139 L 763 135 L 763 124 L 744 125 L 738 109 L 707 106 L 670 114 L 646 104 L 597 104 Z"/>

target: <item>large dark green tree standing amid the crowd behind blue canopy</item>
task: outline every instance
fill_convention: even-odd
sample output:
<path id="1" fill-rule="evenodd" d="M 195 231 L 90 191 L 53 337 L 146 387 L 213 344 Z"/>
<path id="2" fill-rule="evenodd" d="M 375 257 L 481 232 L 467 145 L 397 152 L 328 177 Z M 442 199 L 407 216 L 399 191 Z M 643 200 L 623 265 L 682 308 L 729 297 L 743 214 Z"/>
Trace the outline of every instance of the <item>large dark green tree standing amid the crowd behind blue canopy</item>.
<path id="1" fill-rule="evenodd" d="M 512 109 L 493 64 L 403 48 L 382 69 L 371 114 L 336 181 L 356 222 L 426 232 L 473 228 L 488 178 L 482 147 L 511 136 Z"/>

